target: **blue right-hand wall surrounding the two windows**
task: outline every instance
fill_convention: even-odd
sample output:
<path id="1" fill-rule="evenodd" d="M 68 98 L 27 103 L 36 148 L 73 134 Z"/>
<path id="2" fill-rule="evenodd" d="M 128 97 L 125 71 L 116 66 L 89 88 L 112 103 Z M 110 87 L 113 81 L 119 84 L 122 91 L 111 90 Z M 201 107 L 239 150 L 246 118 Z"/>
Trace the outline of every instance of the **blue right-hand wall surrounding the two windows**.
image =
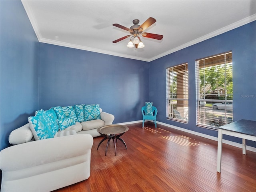
<path id="1" fill-rule="evenodd" d="M 150 62 L 150 101 L 158 121 L 217 137 L 216 131 L 196 125 L 195 60 L 232 50 L 234 121 L 256 120 L 256 21 Z M 166 120 L 166 68 L 188 62 L 188 124 Z M 242 142 L 224 136 L 224 139 Z M 247 142 L 256 147 L 256 142 Z"/>

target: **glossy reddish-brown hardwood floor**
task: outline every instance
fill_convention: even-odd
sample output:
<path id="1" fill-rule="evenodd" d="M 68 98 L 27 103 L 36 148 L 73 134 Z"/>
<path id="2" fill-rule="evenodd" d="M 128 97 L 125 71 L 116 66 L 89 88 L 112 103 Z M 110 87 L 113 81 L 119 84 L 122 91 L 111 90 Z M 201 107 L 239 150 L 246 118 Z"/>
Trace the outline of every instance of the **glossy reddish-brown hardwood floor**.
<path id="1" fill-rule="evenodd" d="M 88 180 L 55 192 L 256 192 L 256 153 L 223 144 L 221 173 L 216 172 L 217 141 L 152 122 L 128 125 L 118 140 L 94 138 Z M 67 175 L 68 176 L 68 175 Z"/>

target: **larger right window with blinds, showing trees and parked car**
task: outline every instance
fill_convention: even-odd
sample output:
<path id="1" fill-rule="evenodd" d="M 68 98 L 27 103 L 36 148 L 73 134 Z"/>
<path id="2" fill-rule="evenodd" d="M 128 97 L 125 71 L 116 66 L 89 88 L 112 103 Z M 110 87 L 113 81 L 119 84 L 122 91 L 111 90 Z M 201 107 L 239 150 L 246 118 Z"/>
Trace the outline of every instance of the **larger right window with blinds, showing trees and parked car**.
<path id="1" fill-rule="evenodd" d="M 232 52 L 196 60 L 196 125 L 233 122 Z"/>

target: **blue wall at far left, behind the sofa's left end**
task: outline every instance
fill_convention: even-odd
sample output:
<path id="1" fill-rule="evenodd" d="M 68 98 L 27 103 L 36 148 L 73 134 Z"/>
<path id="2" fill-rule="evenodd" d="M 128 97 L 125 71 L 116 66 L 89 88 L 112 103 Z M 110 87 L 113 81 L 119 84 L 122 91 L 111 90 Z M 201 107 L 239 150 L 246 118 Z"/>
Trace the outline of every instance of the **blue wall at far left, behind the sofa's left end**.
<path id="1" fill-rule="evenodd" d="M 0 148 L 38 108 L 38 40 L 20 1 L 0 1 Z"/>

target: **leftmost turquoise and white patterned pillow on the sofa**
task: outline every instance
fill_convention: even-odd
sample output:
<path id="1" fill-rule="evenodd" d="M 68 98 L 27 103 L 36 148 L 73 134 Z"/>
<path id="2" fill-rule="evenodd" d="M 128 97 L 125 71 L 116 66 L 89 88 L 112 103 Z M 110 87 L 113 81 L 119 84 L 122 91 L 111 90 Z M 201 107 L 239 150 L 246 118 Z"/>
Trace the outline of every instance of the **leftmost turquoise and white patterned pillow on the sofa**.
<path id="1" fill-rule="evenodd" d="M 45 118 L 42 111 L 38 111 L 34 117 L 28 117 L 28 121 L 30 122 L 30 129 L 35 140 L 54 137 L 53 131 L 49 126 L 49 121 Z"/>

